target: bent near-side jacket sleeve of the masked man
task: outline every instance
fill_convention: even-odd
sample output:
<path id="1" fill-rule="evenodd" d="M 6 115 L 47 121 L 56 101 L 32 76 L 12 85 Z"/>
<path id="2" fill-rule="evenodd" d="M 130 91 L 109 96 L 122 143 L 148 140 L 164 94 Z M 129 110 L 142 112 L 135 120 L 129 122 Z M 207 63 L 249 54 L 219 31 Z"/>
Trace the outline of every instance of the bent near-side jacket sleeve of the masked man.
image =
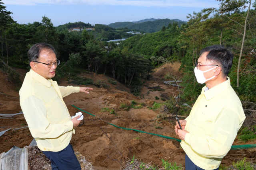
<path id="1" fill-rule="evenodd" d="M 240 123 L 238 113 L 224 108 L 216 118 L 209 137 L 200 137 L 187 133 L 185 142 L 202 156 L 223 158 L 236 138 Z"/>

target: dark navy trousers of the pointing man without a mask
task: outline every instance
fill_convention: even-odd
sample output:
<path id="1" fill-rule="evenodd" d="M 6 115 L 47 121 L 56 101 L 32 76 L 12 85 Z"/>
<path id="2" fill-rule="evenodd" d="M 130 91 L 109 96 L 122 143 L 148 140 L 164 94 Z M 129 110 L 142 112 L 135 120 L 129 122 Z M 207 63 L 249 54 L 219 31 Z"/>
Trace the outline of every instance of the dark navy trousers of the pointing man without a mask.
<path id="1" fill-rule="evenodd" d="M 81 170 L 71 144 L 58 152 L 43 151 L 50 161 L 52 161 L 52 170 Z"/>

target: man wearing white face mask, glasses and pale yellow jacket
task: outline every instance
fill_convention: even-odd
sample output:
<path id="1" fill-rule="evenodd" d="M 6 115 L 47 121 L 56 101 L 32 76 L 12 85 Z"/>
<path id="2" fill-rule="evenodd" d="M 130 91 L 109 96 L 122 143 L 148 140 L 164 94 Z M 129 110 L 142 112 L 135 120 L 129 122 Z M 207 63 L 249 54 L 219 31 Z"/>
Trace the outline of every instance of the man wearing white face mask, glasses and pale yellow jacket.
<path id="1" fill-rule="evenodd" d="M 200 51 L 194 68 L 198 83 L 205 83 L 190 115 L 176 122 L 176 134 L 186 152 L 186 170 L 218 170 L 230 150 L 245 115 L 242 104 L 230 86 L 228 72 L 233 54 L 221 45 Z"/>

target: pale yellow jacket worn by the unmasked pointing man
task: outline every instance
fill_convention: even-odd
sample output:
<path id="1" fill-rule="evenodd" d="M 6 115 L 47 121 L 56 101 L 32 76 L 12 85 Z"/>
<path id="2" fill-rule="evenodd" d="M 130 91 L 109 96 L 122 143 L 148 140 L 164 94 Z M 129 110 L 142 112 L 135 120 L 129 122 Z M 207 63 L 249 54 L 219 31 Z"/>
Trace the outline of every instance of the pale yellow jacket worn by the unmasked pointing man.
<path id="1" fill-rule="evenodd" d="M 62 98 L 79 89 L 58 86 L 32 69 L 26 74 L 20 88 L 20 106 L 39 149 L 58 152 L 68 146 L 75 131 Z"/>

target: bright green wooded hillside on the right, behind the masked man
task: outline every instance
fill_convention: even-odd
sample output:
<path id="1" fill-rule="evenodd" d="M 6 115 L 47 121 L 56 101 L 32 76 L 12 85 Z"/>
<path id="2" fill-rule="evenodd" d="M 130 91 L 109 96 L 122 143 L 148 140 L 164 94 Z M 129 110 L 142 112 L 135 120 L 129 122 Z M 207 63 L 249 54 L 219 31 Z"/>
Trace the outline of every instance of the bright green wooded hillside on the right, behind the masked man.
<path id="1" fill-rule="evenodd" d="M 184 73 L 182 86 L 186 87 L 182 96 L 186 100 L 195 100 L 203 86 L 196 82 L 193 71 L 200 50 L 214 44 L 224 45 L 235 55 L 229 74 L 233 88 L 242 100 L 256 102 L 255 2 L 252 7 L 250 11 L 248 8 L 247 11 L 242 11 L 244 4 L 235 6 L 229 2 L 221 2 L 220 9 L 208 8 L 189 14 L 187 25 L 178 27 L 176 23 L 169 24 L 167 27 L 163 26 L 159 32 L 126 39 L 120 47 L 131 53 L 145 55 L 154 65 L 180 61 L 180 69 Z M 240 53 L 243 37 L 244 45 Z"/>

